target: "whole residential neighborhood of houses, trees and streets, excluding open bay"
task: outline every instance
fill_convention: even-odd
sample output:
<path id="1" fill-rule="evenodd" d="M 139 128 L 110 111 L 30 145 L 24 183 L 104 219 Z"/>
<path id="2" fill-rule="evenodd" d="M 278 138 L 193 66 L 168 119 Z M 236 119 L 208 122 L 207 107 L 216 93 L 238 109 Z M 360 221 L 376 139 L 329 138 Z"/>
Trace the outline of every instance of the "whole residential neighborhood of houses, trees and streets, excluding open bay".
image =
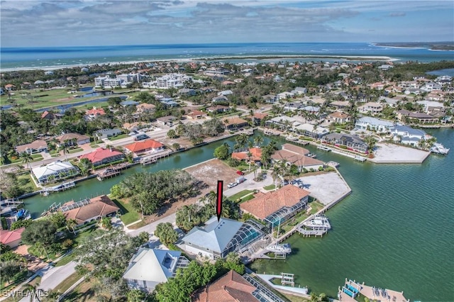
<path id="1" fill-rule="evenodd" d="M 275 292 L 284 286 L 309 297 L 291 274 L 281 286 L 245 265 L 285 259 L 294 233 L 331 230 L 323 213 L 351 190 L 314 150 L 366 164 L 392 163 L 397 147 L 401 162 L 447 154 L 430 133 L 453 128 L 453 78 L 426 72 L 452 67 L 196 60 L 2 72 L 1 286 L 26 281 L 36 258 L 77 263 L 62 280 L 89 276 L 98 301 L 291 300 Z"/>

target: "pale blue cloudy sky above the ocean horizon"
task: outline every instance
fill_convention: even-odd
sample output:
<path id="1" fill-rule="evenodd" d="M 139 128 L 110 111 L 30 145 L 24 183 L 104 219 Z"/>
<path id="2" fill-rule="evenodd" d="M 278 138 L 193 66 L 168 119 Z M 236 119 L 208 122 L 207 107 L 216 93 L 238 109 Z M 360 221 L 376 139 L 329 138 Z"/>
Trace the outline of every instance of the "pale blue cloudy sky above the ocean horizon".
<path id="1" fill-rule="evenodd" d="M 454 40 L 454 1 L 0 1 L 1 47 Z"/>

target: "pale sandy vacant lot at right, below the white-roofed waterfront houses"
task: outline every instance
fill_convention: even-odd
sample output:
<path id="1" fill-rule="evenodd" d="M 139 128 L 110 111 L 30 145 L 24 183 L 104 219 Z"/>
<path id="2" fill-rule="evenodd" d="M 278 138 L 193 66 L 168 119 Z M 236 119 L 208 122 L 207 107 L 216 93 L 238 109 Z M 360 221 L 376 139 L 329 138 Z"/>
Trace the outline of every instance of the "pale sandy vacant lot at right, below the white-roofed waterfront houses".
<path id="1" fill-rule="evenodd" d="M 423 150 L 389 143 L 378 143 L 375 157 L 369 159 L 377 164 L 420 164 L 430 153 Z"/>

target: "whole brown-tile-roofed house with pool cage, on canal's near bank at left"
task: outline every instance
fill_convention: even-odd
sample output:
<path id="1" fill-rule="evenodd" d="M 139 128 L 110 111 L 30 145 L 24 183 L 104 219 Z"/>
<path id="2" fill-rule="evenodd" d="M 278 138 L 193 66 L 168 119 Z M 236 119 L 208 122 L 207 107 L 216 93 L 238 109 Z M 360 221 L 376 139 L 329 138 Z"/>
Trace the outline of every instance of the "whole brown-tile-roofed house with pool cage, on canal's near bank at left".
<path id="1" fill-rule="evenodd" d="M 60 208 L 67 220 L 74 219 L 78 225 L 99 220 L 106 216 L 114 216 L 120 208 L 106 195 L 94 197 L 89 202 L 70 201 Z"/>

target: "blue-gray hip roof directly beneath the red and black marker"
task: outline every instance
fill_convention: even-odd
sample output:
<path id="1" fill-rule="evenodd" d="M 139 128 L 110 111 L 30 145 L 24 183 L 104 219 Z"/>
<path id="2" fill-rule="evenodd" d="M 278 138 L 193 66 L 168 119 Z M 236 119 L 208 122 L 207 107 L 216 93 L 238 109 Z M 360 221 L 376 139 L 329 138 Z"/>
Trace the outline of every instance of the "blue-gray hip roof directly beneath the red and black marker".
<path id="1" fill-rule="evenodd" d="M 216 216 L 206 221 L 204 227 L 194 227 L 182 239 L 198 247 L 204 247 L 214 252 L 223 252 L 228 242 L 233 240 L 243 223 L 228 218 L 221 218 L 218 222 Z"/>

